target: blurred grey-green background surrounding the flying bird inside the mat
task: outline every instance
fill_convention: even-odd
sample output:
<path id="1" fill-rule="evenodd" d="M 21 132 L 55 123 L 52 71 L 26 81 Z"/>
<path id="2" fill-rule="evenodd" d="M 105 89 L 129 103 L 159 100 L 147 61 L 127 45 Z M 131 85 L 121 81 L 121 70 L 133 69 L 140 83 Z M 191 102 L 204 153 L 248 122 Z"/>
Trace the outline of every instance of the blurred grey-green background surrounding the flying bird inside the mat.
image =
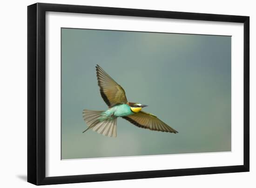
<path id="1" fill-rule="evenodd" d="M 88 130 L 83 109 L 107 110 L 99 64 L 131 102 L 178 134 L 118 118 L 117 137 Z M 231 37 L 61 29 L 62 159 L 231 151 Z"/>

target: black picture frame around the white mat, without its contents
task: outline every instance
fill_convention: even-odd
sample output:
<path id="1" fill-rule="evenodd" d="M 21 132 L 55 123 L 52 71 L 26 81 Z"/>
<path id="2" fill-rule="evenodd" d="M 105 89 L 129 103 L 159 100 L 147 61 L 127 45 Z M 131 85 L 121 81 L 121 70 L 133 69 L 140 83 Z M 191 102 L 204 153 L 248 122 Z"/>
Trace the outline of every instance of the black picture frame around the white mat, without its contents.
<path id="1" fill-rule="evenodd" d="M 46 177 L 46 12 L 243 23 L 243 165 Z M 36 3 L 27 7 L 27 181 L 35 185 L 249 171 L 249 16 Z"/>

